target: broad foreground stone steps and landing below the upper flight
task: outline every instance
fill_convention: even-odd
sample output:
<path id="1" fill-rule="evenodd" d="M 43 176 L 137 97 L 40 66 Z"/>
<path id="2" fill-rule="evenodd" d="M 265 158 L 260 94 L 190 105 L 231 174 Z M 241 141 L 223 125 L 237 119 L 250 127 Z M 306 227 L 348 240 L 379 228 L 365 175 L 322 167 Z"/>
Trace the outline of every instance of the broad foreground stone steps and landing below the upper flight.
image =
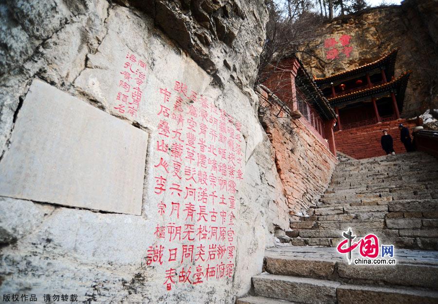
<path id="1" fill-rule="evenodd" d="M 270 248 L 254 296 L 236 304 L 437 304 L 437 251 L 396 254 L 395 266 L 364 266 L 348 265 L 333 247 Z"/>

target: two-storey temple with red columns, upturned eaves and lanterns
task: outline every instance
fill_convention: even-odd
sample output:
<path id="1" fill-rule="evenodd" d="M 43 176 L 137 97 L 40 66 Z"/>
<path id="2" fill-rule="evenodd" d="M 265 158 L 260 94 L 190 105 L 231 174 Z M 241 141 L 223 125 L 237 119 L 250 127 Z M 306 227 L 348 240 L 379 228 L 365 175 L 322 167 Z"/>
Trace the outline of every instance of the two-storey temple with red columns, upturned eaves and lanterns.
<path id="1" fill-rule="evenodd" d="M 338 114 L 337 131 L 400 118 L 410 71 L 394 76 L 397 49 L 363 66 L 314 78 Z"/>

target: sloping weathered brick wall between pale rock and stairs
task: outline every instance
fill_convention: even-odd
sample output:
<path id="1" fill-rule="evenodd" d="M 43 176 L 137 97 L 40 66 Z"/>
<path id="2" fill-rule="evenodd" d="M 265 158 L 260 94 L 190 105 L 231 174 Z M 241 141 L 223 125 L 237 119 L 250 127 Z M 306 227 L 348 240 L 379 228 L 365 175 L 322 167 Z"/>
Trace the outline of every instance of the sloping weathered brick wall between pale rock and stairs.
<path id="1" fill-rule="evenodd" d="M 259 118 L 273 146 L 289 212 L 306 214 L 327 189 L 337 159 L 304 117 L 291 119 L 279 106 L 267 101 L 263 90 L 259 92 Z"/>

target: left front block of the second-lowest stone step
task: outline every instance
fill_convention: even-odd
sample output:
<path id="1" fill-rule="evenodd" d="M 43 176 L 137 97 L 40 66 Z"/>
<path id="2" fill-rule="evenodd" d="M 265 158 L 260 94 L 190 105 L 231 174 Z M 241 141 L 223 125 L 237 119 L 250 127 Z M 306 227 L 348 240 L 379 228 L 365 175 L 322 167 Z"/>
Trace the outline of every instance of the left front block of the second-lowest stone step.
<path id="1" fill-rule="evenodd" d="M 339 282 L 263 273 L 253 277 L 257 296 L 306 304 L 336 304 Z"/>

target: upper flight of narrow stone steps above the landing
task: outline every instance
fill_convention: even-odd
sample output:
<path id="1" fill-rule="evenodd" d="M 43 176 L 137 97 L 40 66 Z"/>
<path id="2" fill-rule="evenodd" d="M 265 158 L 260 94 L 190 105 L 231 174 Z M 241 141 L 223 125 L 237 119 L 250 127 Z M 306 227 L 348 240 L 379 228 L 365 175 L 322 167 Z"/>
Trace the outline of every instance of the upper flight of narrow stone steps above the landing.
<path id="1" fill-rule="evenodd" d="M 397 248 L 438 250 L 438 160 L 421 152 L 339 163 L 317 206 L 291 222 L 294 246 L 339 244 L 351 227 Z"/>

